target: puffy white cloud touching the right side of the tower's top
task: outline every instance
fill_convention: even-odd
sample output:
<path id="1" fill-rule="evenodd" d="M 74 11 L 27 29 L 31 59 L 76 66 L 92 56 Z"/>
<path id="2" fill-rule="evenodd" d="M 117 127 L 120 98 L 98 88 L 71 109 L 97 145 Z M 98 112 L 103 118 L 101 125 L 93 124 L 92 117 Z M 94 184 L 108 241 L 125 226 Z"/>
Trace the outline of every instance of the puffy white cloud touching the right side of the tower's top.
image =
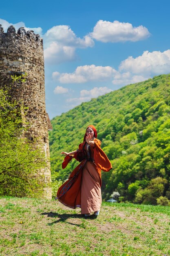
<path id="1" fill-rule="evenodd" d="M 62 63 L 75 60 L 75 49 L 93 47 L 90 36 L 79 38 L 67 25 L 59 25 L 44 34 L 44 58 L 48 63 Z"/>

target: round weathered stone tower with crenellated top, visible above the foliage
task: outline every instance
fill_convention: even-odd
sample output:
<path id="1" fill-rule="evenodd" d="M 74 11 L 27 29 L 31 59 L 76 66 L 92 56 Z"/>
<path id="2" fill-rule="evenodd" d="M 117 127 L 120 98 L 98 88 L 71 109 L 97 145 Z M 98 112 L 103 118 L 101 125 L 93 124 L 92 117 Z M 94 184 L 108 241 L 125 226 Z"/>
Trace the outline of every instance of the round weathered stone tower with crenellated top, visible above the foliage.
<path id="1" fill-rule="evenodd" d="M 24 118 L 29 122 L 25 137 L 39 144 L 49 158 L 49 117 L 45 108 L 44 54 L 43 42 L 33 31 L 18 29 L 17 33 L 10 26 L 4 33 L 0 25 L 0 88 L 11 84 L 11 75 L 19 76 L 26 72 L 26 82 L 13 86 L 9 91 L 11 97 L 22 101 L 28 107 Z M 51 183 L 50 163 L 48 168 L 39 172 L 39 179 L 44 184 Z M 44 198 L 51 198 L 51 187 L 44 189 Z"/>

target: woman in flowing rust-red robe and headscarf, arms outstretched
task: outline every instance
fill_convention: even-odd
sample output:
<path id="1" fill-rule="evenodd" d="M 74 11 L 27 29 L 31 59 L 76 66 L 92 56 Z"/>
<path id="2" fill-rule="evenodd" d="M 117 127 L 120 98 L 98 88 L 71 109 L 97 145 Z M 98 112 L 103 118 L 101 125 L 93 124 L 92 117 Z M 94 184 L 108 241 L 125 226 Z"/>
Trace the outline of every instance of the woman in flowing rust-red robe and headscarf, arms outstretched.
<path id="1" fill-rule="evenodd" d="M 84 141 L 79 144 L 78 150 L 61 152 L 66 156 L 62 168 L 65 168 L 73 157 L 81 163 L 58 189 L 56 199 L 73 209 L 81 207 L 81 213 L 86 217 L 90 216 L 91 212 L 94 212 L 95 216 L 99 215 L 102 203 L 101 170 L 110 171 L 112 168 L 100 145 L 97 130 L 90 125 L 86 128 Z"/>

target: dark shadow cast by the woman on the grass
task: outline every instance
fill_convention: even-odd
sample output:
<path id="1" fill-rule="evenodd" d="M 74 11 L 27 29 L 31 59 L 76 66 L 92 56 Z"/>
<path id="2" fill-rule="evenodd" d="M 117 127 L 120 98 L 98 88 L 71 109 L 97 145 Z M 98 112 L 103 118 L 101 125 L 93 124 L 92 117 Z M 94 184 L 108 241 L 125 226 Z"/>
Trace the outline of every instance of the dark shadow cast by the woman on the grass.
<path id="1" fill-rule="evenodd" d="M 94 216 L 94 215 L 91 215 L 88 218 L 86 218 L 86 217 L 84 217 L 84 214 L 77 214 L 77 213 L 76 214 L 69 214 L 69 213 L 59 214 L 59 213 L 54 213 L 52 211 L 41 213 L 41 215 L 47 215 L 47 217 L 51 217 L 51 218 L 59 218 L 58 220 L 49 223 L 48 224 L 49 226 L 51 226 L 55 223 L 58 223 L 58 222 L 67 222 L 68 224 L 80 227 L 82 224 L 72 223 L 67 220 L 70 218 L 72 218 L 72 219 L 95 219 L 96 218 L 96 216 Z"/>

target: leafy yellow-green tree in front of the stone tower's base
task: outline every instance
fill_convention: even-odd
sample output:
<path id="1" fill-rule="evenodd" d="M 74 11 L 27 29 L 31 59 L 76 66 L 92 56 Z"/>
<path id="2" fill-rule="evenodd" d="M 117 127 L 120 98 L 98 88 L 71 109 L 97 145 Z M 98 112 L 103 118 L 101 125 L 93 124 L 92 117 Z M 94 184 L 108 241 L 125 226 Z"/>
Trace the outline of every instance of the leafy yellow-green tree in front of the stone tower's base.
<path id="1" fill-rule="evenodd" d="M 22 77 L 14 82 L 17 79 Z M 33 196 L 43 190 L 37 177 L 38 170 L 46 166 L 45 156 L 22 137 L 24 111 L 22 105 L 9 100 L 7 90 L 0 90 L 0 195 Z"/>

